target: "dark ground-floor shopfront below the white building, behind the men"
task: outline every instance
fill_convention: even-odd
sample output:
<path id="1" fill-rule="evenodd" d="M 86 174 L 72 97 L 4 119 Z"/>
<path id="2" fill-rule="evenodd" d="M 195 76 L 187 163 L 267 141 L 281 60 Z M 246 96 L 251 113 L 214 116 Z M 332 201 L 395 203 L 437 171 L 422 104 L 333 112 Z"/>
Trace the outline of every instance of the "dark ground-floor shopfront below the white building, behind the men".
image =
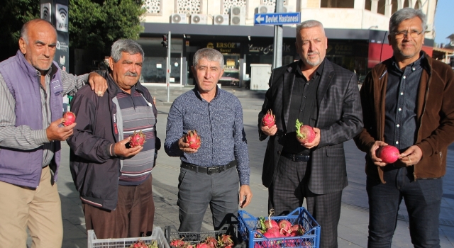
<path id="1" fill-rule="evenodd" d="M 172 32 L 171 85 L 194 85 L 192 58 L 204 47 L 224 56 L 222 86 L 248 87 L 250 64 L 272 64 L 272 26 L 210 26 L 172 23 L 145 23 L 140 45 L 145 50 L 143 81 L 165 84 L 167 50 L 160 45 L 162 35 Z M 387 32 L 360 29 L 326 29 L 326 57 L 341 67 L 355 72 L 358 82 L 377 63 L 392 56 Z M 423 50 L 432 54 L 433 40 L 425 40 Z M 282 64 L 299 60 L 295 48 L 295 28 L 284 26 Z"/>

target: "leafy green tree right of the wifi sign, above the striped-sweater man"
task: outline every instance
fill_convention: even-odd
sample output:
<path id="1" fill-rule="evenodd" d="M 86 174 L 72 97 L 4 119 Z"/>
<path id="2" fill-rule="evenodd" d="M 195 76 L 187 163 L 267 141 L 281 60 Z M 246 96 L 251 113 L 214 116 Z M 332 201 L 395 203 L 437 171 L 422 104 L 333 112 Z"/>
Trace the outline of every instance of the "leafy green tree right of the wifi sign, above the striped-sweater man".
<path id="1" fill-rule="evenodd" d="M 145 13 L 138 0 L 70 0 L 70 47 L 109 55 L 114 41 L 138 39 L 140 16 Z"/>

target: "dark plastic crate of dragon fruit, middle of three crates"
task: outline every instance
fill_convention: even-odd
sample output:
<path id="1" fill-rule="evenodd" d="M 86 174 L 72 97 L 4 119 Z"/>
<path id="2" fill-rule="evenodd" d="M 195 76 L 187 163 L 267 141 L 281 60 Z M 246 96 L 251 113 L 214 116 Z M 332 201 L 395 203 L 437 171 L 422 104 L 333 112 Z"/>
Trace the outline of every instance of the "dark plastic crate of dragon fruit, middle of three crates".
<path id="1" fill-rule="evenodd" d="M 235 248 L 245 248 L 245 243 L 238 242 L 238 238 L 236 237 L 236 225 L 224 225 L 221 230 L 218 231 L 201 231 L 201 232 L 178 232 L 177 228 L 172 225 L 167 225 L 165 227 L 165 238 L 167 242 L 170 242 L 173 239 L 181 239 L 183 238 L 184 242 L 189 242 L 189 244 L 199 244 L 203 242 L 206 237 L 215 237 L 216 239 L 218 236 L 223 234 L 231 235 L 231 239 L 233 241 L 233 247 Z"/>

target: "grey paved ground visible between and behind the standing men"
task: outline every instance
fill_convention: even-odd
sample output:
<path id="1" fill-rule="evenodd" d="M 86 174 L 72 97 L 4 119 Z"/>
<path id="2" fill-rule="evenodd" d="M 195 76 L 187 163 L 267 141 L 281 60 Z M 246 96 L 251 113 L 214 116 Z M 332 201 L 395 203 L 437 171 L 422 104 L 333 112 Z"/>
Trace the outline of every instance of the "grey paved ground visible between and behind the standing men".
<path id="1" fill-rule="evenodd" d="M 192 87 L 171 87 L 170 102 L 167 102 L 165 86 L 148 86 L 156 97 L 157 136 L 165 140 L 167 113 L 172 101 Z M 248 138 L 250 157 L 250 187 L 253 201 L 245 208 L 255 216 L 267 214 L 267 189 L 261 184 L 262 162 L 266 141 L 260 142 L 257 133 L 258 111 L 263 103 L 265 91 L 223 88 L 235 94 L 243 105 L 243 122 Z M 364 154 L 353 141 L 345 142 L 348 169 L 348 187 L 343 191 L 341 221 L 338 225 L 339 247 L 367 247 L 368 205 L 365 191 Z M 57 182 L 62 201 L 64 239 L 62 247 L 87 247 L 87 234 L 79 195 L 74 188 L 69 168 L 69 147 L 62 143 L 62 166 Z M 155 225 L 164 229 L 165 225 L 178 227 L 177 183 L 179 158 L 168 157 L 160 150 L 157 166 L 153 169 L 153 196 L 155 199 Z M 454 247 L 454 145 L 449 147 L 448 169 L 443 181 L 443 201 L 440 215 L 441 247 Z M 390 223 L 392 225 L 392 223 Z M 204 230 L 212 230 L 210 211 L 206 211 L 202 225 Z M 404 203 L 399 211 L 399 220 L 394 233 L 392 247 L 413 247 L 409 237 L 409 220 Z"/>

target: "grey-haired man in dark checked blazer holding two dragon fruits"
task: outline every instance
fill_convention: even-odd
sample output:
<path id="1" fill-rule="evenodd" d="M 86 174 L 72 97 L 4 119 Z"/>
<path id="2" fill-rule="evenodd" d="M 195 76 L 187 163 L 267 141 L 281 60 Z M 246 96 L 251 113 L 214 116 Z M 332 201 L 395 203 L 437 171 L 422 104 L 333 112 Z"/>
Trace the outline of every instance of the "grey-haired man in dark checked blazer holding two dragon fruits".
<path id="1" fill-rule="evenodd" d="M 319 21 L 297 26 L 301 60 L 272 71 L 270 89 L 258 115 L 260 140 L 268 140 L 262 183 L 268 207 L 277 215 L 299 208 L 321 225 L 321 246 L 337 247 L 342 190 L 348 185 L 343 142 L 362 129 L 358 81 L 353 72 L 326 60 L 328 40 Z M 262 124 L 272 109 L 276 123 Z M 303 144 L 295 121 L 314 127 L 315 138 Z"/>

